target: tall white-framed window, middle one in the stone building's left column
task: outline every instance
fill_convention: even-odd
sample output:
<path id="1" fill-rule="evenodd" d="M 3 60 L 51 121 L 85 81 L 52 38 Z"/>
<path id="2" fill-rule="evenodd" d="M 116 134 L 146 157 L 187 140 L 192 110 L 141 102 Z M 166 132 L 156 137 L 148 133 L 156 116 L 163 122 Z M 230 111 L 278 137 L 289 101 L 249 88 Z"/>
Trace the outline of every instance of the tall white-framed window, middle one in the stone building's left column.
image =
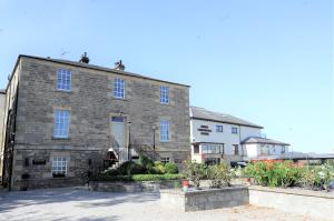
<path id="1" fill-rule="evenodd" d="M 53 137 L 68 138 L 69 110 L 56 110 Z"/>

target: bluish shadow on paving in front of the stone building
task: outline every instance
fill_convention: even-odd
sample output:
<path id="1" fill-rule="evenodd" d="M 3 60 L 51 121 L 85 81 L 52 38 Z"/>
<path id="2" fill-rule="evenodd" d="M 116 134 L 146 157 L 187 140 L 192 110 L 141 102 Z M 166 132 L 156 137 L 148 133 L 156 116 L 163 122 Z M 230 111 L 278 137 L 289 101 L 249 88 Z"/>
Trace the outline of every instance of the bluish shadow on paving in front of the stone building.
<path id="1" fill-rule="evenodd" d="M 84 189 L 60 188 L 49 190 L 31 190 L 31 191 L 14 191 L 0 192 L 0 215 L 16 208 L 61 203 L 77 202 L 76 207 L 84 209 L 92 207 L 110 207 L 125 202 L 147 202 L 158 200 L 158 193 L 114 193 L 114 192 L 94 192 Z M 33 211 L 30 211 L 33 212 Z M 90 221 L 94 219 L 82 219 Z M 114 219 L 115 220 L 115 219 Z"/>

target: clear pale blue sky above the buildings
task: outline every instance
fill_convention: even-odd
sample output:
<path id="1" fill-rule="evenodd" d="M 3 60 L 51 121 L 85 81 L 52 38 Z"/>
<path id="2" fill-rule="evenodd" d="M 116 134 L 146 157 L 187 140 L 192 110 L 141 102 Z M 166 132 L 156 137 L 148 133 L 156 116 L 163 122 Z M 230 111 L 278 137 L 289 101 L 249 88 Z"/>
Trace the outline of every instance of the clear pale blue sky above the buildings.
<path id="1" fill-rule="evenodd" d="M 18 54 L 190 84 L 190 103 L 334 151 L 333 2 L 0 0 L 0 87 Z"/>

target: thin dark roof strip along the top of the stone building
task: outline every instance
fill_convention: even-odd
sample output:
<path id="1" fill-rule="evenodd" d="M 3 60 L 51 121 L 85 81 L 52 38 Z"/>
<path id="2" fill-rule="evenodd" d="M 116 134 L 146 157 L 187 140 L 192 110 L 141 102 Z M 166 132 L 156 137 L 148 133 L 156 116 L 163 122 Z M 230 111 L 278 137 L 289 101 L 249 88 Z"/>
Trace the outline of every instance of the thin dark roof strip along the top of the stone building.
<path id="1" fill-rule="evenodd" d="M 176 86 L 190 87 L 190 86 L 186 86 L 186 84 L 181 84 L 181 83 L 175 83 L 175 82 L 170 82 L 170 81 L 164 81 L 164 80 L 159 80 L 159 79 L 155 79 L 155 78 L 150 78 L 150 77 L 146 77 L 146 76 L 128 72 L 128 71 L 121 71 L 121 70 L 116 70 L 116 69 L 111 69 L 111 68 L 105 68 L 105 67 L 100 67 L 100 66 L 82 63 L 82 62 L 78 62 L 78 61 L 51 59 L 49 57 L 48 58 L 42 58 L 42 57 L 26 56 L 26 54 L 20 54 L 19 58 L 18 58 L 18 61 L 20 60 L 20 58 L 31 58 L 31 59 L 38 59 L 38 60 L 43 60 L 43 61 L 51 61 L 51 62 L 62 63 L 62 64 L 68 64 L 68 66 L 73 66 L 73 67 L 80 67 L 80 68 L 87 68 L 87 69 L 92 69 L 92 70 L 119 73 L 119 74 L 124 74 L 124 76 L 130 76 L 130 77 L 147 79 L 147 80 L 154 80 L 154 81 L 159 81 L 159 82 L 164 82 L 164 83 L 171 83 L 171 84 L 176 84 Z"/>

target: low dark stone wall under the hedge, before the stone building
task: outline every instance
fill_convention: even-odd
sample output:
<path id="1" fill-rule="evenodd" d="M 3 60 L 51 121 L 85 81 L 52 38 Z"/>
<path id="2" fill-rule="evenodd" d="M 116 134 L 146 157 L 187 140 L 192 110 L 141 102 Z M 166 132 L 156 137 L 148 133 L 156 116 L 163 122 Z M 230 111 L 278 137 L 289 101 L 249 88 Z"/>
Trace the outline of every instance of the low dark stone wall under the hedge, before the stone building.
<path id="1" fill-rule="evenodd" d="M 90 191 L 100 192 L 159 192 L 160 189 L 173 189 L 180 185 L 179 180 L 169 181 L 141 181 L 141 182 L 118 182 L 118 181 L 91 181 Z"/>

